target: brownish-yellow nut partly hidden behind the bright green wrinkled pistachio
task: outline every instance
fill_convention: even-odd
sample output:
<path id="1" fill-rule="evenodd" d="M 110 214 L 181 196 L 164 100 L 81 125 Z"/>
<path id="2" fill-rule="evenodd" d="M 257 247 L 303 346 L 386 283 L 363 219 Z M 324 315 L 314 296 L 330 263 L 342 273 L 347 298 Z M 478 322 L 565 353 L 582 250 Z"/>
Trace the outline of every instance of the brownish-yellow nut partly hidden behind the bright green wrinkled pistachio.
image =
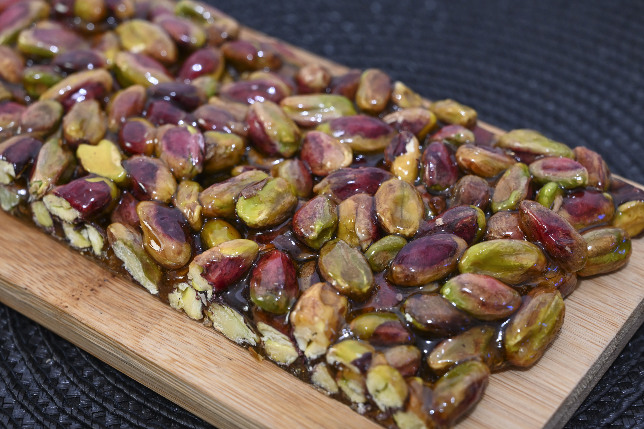
<path id="1" fill-rule="evenodd" d="M 243 188 L 266 179 L 268 175 L 260 170 L 243 172 L 206 188 L 199 194 L 199 203 L 204 207 L 205 217 L 231 217 L 235 203 Z"/>

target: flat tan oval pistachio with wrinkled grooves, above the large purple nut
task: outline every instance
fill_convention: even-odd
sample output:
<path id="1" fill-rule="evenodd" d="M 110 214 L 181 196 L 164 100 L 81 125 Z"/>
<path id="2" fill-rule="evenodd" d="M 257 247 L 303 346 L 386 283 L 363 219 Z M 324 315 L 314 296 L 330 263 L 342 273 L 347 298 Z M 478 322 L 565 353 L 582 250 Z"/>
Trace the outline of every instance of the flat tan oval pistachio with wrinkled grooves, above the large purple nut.
<path id="1" fill-rule="evenodd" d="M 389 234 L 413 237 L 423 212 L 421 195 L 406 181 L 389 179 L 375 193 L 375 213 L 380 226 Z"/>

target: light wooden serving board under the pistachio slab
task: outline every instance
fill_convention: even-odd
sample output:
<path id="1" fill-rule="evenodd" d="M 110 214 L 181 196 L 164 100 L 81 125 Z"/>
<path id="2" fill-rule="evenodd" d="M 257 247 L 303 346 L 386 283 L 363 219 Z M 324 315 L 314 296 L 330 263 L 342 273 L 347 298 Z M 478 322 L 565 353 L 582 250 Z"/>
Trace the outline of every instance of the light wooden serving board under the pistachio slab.
<path id="1" fill-rule="evenodd" d="M 0 228 L 0 301 L 218 428 L 381 428 L 32 226 L 0 212 Z M 644 240 L 632 248 L 625 268 L 580 281 L 544 356 L 493 374 L 459 429 L 564 426 L 643 321 Z"/>

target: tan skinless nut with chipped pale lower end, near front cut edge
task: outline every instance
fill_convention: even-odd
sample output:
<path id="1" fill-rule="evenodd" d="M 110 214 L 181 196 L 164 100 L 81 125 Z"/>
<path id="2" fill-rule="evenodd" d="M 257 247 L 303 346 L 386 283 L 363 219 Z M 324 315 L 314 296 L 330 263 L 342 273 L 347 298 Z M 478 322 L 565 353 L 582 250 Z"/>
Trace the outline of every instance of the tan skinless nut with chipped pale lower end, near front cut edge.
<path id="1" fill-rule="evenodd" d="M 327 352 L 345 323 L 348 302 L 328 283 L 305 290 L 290 312 L 293 337 L 308 359 Z"/>

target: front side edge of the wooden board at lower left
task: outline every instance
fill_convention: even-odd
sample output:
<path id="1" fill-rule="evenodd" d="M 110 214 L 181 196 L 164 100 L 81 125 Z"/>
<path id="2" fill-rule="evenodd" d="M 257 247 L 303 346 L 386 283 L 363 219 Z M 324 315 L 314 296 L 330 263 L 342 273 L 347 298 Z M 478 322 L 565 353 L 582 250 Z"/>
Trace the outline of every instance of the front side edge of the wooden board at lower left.
<path id="1" fill-rule="evenodd" d="M 30 294 L 17 284 L 6 281 L 2 277 L 0 277 L 0 287 L 2 287 L 3 292 L 8 292 L 0 294 L 0 301 L 6 306 L 60 335 L 100 361 L 113 366 L 113 368 L 135 379 L 138 383 L 144 384 L 144 386 L 173 401 L 192 414 L 214 424 L 218 429 L 264 428 L 259 422 L 251 423 L 249 416 L 245 416 L 245 421 L 240 425 L 239 419 L 234 418 L 235 413 L 219 406 L 214 401 L 211 401 L 210 404 L 205 404 L 205 406 L 204 403 L 196 406 L 195 403 L 186 401 L 187 395 L 182 394 L 178 388 L 174 390 L 168 388 L 169 386 L 180 386 L 180 381 L 176 380 L 171 373 L 164 371 L 160 366 L 156 365 L 156 368 L 164 372 L 162 376 L 164 380 L 167 380 L 165 384 L 157 384 L 153 378 L 148 377 L 146 372 L 135 364 L 137 360 L 144 358 L 140 355 L 133 356 L 133 353 L 127 347 L 122 346 L 115 339 L 95 330 L 91 330 L 91 335 L 82 334 L 82 332 L 89 330 L 82 321 L 77 321 L 77 319 L 62 312 L 56 306 Z M 52 319 L 57 320 L 58 323 L 50 323 Z M 70 326 L 70 329 L 64 329 L 63 326 Z M 73 328 L 71 328 L 72 326 Z M 104 344 L 103 346 L 89 339 L 97 336 L 100 337 L 102 344 Z"/>

